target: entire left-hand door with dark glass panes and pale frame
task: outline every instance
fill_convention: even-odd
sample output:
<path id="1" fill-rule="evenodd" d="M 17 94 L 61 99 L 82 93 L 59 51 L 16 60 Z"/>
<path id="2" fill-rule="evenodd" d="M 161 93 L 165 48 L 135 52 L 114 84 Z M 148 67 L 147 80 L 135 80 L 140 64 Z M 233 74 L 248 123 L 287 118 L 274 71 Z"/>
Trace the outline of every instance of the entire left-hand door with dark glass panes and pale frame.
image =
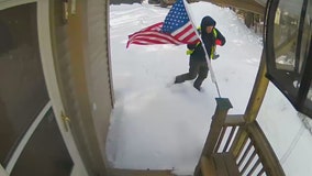
<path id="1" fill-rule="evenodd" d="M 48 4 L 0 0 L 0 175 L 87 175 L 62 120 Z"/>

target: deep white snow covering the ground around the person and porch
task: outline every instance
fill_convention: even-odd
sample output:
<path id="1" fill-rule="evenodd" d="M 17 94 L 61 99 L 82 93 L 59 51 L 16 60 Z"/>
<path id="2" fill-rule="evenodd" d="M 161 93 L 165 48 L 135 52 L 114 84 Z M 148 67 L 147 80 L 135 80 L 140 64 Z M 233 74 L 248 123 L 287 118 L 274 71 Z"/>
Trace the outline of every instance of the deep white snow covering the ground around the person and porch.
<path id="1" fill-rule="evenodd" d="M 230 113 L 244 113 L 259 66 L 261 36 L 247 29 L 227 8 L 209 2 L 188 6 L 199 25 L 204 15 L 216 21 L 226 37 L 212 61 L 221 96 L 233 105 Z M 186 45 L 131 45 L 127 35 L 164 21 L 169 9 L 142 4 L 110 6 L 110 42 L 114 110 L 107 153 L 116 168 L 171 169 L 192 174 L 202 151 L 218 91 L 211 78 L 203 92 L 192 81 L 171 85 L 188 70 Z M 269 85 L 258 116 L 288 176 L 312 175 L 312 138 L 288 100 Z"/>

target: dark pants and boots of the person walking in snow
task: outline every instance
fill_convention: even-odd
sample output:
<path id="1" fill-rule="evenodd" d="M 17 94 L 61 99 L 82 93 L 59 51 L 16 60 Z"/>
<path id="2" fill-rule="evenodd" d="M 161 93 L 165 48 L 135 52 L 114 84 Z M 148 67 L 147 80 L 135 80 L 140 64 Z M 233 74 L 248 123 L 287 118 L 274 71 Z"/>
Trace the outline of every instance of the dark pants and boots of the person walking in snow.
<path id="1" fill-rule="evenodd" d="M 189 66 L 189 73 L 176 76 L 175 84 L 192 80 L 197 77 L 193 82 L 193 87 L 200 90 L 200 86 L 207 78 L 209 72 L 207 62 L 190 59 Z"/>

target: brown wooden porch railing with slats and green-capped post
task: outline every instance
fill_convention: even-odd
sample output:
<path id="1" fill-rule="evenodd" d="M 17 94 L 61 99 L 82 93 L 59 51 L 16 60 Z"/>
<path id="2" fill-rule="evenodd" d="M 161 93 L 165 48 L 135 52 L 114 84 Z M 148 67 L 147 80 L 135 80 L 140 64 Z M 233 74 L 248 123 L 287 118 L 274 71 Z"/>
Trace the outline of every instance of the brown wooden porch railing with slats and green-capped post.
<path id="1" fill-rule="evenodd" d="M 282 167 L 256 120 L 229 116 L 229 99 L 218 106 L 194 176 L 285 176 Z"/>

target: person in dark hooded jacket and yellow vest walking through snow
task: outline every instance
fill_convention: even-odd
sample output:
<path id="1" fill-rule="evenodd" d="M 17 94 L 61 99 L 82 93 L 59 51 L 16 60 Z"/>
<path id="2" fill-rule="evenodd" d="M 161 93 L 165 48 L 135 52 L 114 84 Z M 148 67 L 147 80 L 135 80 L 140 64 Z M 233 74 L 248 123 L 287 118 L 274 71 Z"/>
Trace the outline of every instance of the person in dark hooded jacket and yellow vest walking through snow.
<path id="1" fill-rule="evenodd" d="M 209 59 L 211 59 L 218 57 L 214 55 L 216 45 L 223 46 L 225 44 L 225 37 L 215 29 L 215 21 L 209 15 L 202 19 L 200 33 L 203 45 L 201 42 L 187 45 L 189 48 L 188 54 L 190 54 L 189 73 L 176 76 L 175 84 L 197 78 L 193 87 L 200 91 L 201 84 L 209 72 L 204 48 Z"/>

